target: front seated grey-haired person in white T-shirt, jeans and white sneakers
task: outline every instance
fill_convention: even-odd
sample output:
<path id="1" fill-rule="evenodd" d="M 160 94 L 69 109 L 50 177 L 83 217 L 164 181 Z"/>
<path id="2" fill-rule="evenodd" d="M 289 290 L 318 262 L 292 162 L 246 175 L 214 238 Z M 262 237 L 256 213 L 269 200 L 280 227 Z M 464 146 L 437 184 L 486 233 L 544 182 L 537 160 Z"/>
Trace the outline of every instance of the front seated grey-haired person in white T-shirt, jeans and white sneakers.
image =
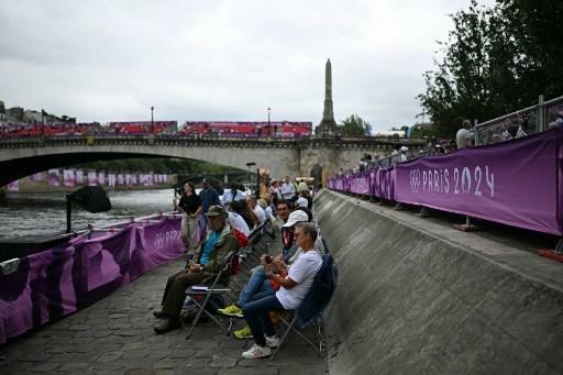
<path id="1" fill-rule="evenodd" d="M 244 359 L 261 359 L 272 354 L 271 348 L 277 346 L 279 339 L 275 335 L 268 312 L 297 309 L 321 267 L 321 254 L 314 246 L 317 240 L 314 225 L 308 222 L 296 224 L 294 236 L 302 252 L 286 277 L 273 274 L 271 265 L 264 264 L 266 275 L 279 283 L 279 290 L 275 295 L 247 302 L 243 308 L 244 319 L 249 323 L 255 342 L 249 351 L 242 353 Z"/>

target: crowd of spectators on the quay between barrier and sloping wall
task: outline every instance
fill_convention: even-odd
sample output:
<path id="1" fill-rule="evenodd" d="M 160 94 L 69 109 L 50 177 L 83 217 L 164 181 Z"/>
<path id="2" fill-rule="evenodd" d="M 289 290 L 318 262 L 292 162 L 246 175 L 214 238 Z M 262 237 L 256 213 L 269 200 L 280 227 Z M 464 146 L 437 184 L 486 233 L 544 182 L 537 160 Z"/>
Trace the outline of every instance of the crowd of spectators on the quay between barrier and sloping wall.
<path id="1" fill-rule="evenodd" d="M 246 326 L 234 331 L 236 339 L 255 342 L 242 353 L 243 357 L 269 356 L 272 348 L 280 343 L 276 334 L 280 321 L 276 311 L 295 310 L 300 306 L 323 263 L 324 245 L 309 187 L 286 177 L 283 181 L 273 181 L 260 198 L 247 195 L 238 183 L 231 184 L 220 196 L 210 181 L 203 179 L 199 195 L 196 186 L 186 181 L 180 199 L 175 198 L 173 203 L 183 212 L 181 238 L 189 261 L 166 283 L 162 309 L 154 311 L 157 319 L 163 319 L 155 332 L 163 334 L 179 329 L 183 322 L 191 323 L 197 310 L 185 309 L 189 306 L 189 301 L 185 302 L 186 290 L 194 285 L 212 284 L 228 254 L 239 252 L 256 233 L 276 238 L 274 229 L 279 227 L 282 253 L 262 255 L 239 298 L 217 310 L 246 321 Z M 230 274 L 221 277 L 221 285 L 228 286 Z"/>

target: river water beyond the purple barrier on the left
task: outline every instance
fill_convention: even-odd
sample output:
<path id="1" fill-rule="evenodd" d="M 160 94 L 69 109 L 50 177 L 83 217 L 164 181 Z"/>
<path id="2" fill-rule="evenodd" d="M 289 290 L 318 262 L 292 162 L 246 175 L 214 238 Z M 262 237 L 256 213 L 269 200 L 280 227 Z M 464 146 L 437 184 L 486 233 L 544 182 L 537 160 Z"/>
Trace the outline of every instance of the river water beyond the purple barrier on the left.
<path id="1" fill-rule="evenodd" d="M 90 213 L 73 207 L 73 230 L 87 224 L 101 227 L 131 217 L 173 210 L 173 189 L 109 191 L 111 211 Z M 0 198 L 0 239 L 29 234 L 49 234 L 66 230 L 64 192 L 8 194 Z"/>

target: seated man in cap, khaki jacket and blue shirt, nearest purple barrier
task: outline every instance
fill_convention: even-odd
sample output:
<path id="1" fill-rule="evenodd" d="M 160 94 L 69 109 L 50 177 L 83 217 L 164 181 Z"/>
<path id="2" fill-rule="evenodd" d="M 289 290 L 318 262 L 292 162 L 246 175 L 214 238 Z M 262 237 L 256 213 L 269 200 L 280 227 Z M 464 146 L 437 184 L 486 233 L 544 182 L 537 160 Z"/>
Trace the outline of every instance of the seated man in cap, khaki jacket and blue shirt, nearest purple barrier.
<path id="1" fill-rule="evenodd" d="M 209 222 L 206 241 L 198 247 L 186 269 L 168 277 L 163 308 L 154 311 L 156 318 L 166 319 L 162 326 L 154 328 L 157 334 L 180 328 L 179 315 L 186 299 L 186 289 L 191 285 L 212 283 L 227 254 L 239 249 L 236 238 L 227 223 L 228 213 L 222 206 L 211 206 L 206 217 Z M 229 276 L 225 273 L 219 283 L 228 285 Z"/>

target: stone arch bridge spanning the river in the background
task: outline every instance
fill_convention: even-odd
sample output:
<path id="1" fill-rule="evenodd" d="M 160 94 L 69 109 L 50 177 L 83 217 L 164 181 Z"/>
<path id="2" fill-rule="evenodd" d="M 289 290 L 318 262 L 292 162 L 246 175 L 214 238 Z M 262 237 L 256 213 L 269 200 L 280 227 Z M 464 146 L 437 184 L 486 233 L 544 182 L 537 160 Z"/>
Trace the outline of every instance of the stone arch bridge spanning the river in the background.
<path id="1" fill-rule="evenodd" d="M 310 136 L 300 139 L 233 139 L 177 135 L 68 136 L 0 140 L 0 186 L 48 168 L 119 158 L 178 157 L 246 169 L 246 163 L 268 168 L 273 178 L 323 175 L 357 164 L 364 154 L 388 155 L 397 145 L 417 152 L 423 140 Z"/>

